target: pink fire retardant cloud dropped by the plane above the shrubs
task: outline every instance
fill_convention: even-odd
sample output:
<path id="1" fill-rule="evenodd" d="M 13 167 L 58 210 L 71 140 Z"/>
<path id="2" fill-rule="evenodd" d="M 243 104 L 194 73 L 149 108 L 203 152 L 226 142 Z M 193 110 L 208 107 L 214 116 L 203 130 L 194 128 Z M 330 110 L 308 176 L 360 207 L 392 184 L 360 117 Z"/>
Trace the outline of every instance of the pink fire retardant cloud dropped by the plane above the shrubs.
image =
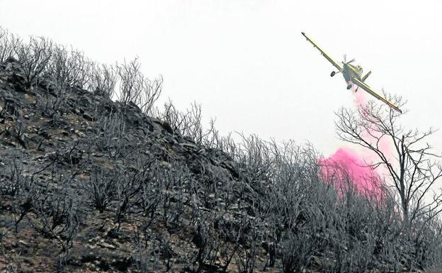
<path id="1" fill-rule="evenodd" d="M 368 104 L 369 97 L 363 89 L 353 87 L 351 91 L 358 108 Z M 368 140 L 375 140 L 375 137 L 379 136 L 377 132 L 365 131 L 364 133 L 364 137 Z M 378 145 L 387 157 L 391 155 L 391 145 L 387 139 L 381 138 Z M 342 194 L 345 190 L 354 189 L 361 194 L 374 196 L 376 199 L 381 198 L 380 173 L 378 169 L 370 167 L 376 162 L 374 152 L 341 147 L 333 155 L 320 159 L 318 162 L 322 167 L 322 179 L 324 182 L 333 184 L 338 193 Z"/>

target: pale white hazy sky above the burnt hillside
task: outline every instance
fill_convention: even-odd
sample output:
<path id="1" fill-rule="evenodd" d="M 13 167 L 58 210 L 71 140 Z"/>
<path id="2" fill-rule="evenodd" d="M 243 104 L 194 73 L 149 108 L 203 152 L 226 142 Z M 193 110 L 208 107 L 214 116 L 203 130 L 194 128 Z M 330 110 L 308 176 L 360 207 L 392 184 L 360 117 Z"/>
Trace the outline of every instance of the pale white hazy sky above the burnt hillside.
<path id="1" fill-rule="evenodd" d="M 356 57 L 367 83 L 407 99 L 409 128 L 442 125 L 442 1 L 0 0 L 0 25 L 74 45 L 98 62 L 139 56 L 164 77 L 163 98 L 203 105 L 221 133 L 342 143 L 334 111 L 354 107 L 344 79 L 300 34 L 336 60 Z M 442 150 L 442 131 L 431 139 Z"/>

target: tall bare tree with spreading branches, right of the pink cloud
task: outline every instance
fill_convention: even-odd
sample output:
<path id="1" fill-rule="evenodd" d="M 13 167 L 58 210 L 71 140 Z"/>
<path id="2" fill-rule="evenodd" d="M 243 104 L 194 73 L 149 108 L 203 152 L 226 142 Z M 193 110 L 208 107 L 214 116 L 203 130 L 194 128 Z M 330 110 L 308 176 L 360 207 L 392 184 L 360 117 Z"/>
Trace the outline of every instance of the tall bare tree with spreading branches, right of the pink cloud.
<path id="1" fill-rule="evenodd" d="M 390 98 L 403 106 L 401 98 Z M 399 124 L 400 113 L 381 104 L 370 101 L 357 111 L 341 108 L 336 112 L 336 131 L 341 140 L 365 147 L 377 156 L 370 167 L 387 170 L 397 194 L 404 223 L 412 225 L 417 218 L 436 216 L 442 211 L 442 194 L 434 194 L 433 186 L 442 176 L 441 155 L 432 152 L 426 143 L 434 133 L 431 128 L 425 132 L 406 130 Z M 392 145 L 392 155 L 382 143 Z"/>

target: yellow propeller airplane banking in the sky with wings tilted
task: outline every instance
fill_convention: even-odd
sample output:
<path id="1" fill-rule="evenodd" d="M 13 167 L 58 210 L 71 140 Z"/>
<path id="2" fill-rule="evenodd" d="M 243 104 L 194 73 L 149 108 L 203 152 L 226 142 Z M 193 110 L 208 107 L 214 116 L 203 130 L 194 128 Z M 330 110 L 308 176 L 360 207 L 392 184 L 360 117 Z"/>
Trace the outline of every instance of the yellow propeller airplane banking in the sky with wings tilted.
<path id="1" fill-rule="evenodd" d="M 359 65 L 351 65 L 351 62 L 354 62 L 355 60 L 352 59 L 347 62 L 346 55 L 344 55 L 344 62 L 342 62 L 342 65 L 340 65 L 338 62 L 333 60 L 329 55 L 327 55 L 327 53 L 324 52 L 324 50 L 322 50 L 322 48 L 319 48 L 319 46 L 316 43 L 314 43 L 314 41 L 310 37 L 308 37 L 307 34 L 305 34 L 303 32 L 301 34 L 304 35 L 304 37 L 307 38 L 307 40 L 310 43 L 312 43 L 314 48 L 317 48 L 321 52 L 322 56 L 324 56 L 329 62 L 331 62 L 331 65 L 334 65 L 334 67 L 336 67 L 336 69 L 338 69 L 337 72 L 334 72 L 334 71 L 331 72 L 331 74 L 330 74 L 331 77 L 333 77 L 335 74 L 342 73 L 342 76 L 344 76 L 344 79 L 346 80 L 346 82 L 348 84 L 347 89 L 351 89 L 351 87 L 353 87 L 353 84 L 356 84 L 356 86 L 357 86 L 356 91 L 358 91 L 359 87 L 361 87 L 362 89 L 367 91 L 368 94 L 370 94 L 370 95 L 374 96 L 376 99 L 379 99 L 380 101 L 384 102 L 385 104 L 387 104 L 391 108 L 395 109 L 399 113 L 402 113 L 402 111 L 399 109 L 399 107 L 395 106 L 395 104 L 392 104 L 390 101 L 388 101 L 384 97 L 377 94 L 371 87 L 369 87 L 367 84 L 365 84 L 365 79 L 367 79 L 368 76 L 370 76 L 371 71 L 368 72 L 367 74 L 365 74 L 365 76 L 363 76 L 362 67 L 360 67 Z"/>

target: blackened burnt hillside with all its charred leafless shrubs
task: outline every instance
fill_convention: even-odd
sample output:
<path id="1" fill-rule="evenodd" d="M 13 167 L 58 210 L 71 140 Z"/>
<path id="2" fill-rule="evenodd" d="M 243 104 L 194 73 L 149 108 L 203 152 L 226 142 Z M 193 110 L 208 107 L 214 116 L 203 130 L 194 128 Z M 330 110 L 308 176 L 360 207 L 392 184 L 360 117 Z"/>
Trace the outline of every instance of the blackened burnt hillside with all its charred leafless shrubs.
<path id="1" fill-rule="evenodd" d="M 440 268 L 434 210 L 404 225 L 395 191 L 348 176 L 337 194 L 310 145 L 237 143 L 198 104 L 155 106 L 161 90 L 137 60 L 0 29 L 0 271 Z"/>

